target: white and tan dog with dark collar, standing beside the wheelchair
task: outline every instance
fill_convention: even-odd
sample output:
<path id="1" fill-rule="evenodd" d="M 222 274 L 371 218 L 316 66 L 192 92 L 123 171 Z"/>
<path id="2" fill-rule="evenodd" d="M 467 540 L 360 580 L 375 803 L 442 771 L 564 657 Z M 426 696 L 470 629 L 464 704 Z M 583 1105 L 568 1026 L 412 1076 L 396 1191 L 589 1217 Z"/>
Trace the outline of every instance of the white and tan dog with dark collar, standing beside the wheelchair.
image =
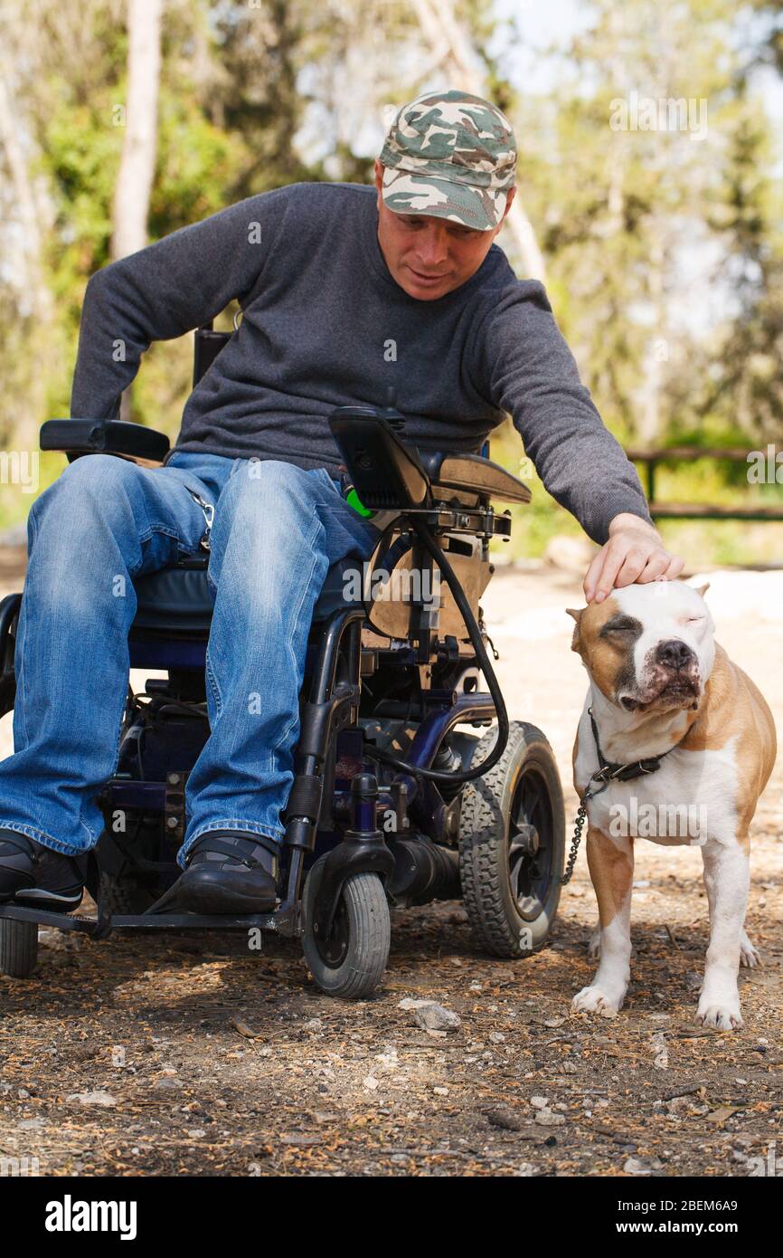
<path id="1" fill-rule="evenodd" d="M 748 828 L 777 745 L 764 697 L 714 642 L 706 589 L 682 581 L 628 585 L 602 603 L 568 609 L 577 623 L 572 649 L 591 679 L 573 765 L 579 798 L 588 794 L 587 860 L 598 898 L 601 956 L 573 1008 L 613 1016 L 622 1005 L 630 979 L 635 838 L 696 844 L 710 907 L 696 1018 L 729 1030 L 743 1025 L 740 959 L 744 965 L 758 961 L 744 930 Z M 605 776 L 593 780 L 607 762 Z M 622 771 L 625 781 L 611 776 L 621 765 L 636 765 Z"/>

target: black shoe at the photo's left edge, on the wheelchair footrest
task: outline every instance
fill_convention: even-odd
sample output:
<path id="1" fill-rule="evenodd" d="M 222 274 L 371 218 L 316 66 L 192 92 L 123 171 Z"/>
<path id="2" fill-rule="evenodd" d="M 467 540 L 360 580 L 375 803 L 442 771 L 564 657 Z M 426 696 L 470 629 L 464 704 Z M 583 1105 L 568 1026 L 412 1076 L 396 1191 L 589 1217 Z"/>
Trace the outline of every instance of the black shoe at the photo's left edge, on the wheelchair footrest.
<path id="1" fill-rule="evenodd" d="M 0 829 L 0 903 L 14 899 L 53 912 L 78 908 L 87 859 L 87 853 L 67 857 L 26 834 Z"/>

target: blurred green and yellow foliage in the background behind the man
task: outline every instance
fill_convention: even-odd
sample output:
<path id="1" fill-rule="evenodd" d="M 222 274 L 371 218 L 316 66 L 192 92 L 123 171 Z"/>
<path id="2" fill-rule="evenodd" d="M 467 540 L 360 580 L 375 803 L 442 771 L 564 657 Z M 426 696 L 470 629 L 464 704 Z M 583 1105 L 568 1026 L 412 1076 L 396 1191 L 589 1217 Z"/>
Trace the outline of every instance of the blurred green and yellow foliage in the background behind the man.
<path id="1" fill-rule="evenodd" d="M 41 269 L 53 303 L 45 328 L 19 317 L 0 268 L 0 437 L 13 445 L 68 414 L 84 287 L 109 260 L 127 35 L 113 0 L 10 6 L 20 128 L 50 210 Z M 488 94 L 515 123 L 520 198 L 549 298 L 607 425 L 626 445 L 779 442 L 783 181 L 779 137 L 750 88 L 755 65 L 783 69 L 780 0 L 592 0 L 591 25 L 562 58 L 549 97 L 515 91 L 488 52 L 493 40 L 513 45 L 512 10 L 501 30 L 493 0 L 455 0 L 455 13 Z M 167 0 L 150 239 L 297 180 L 368 182 L 372 155 L 354 143 L 363 113 L 413 96 L 437 73 L 422 69 L 416 23 L 411 6 L 358 0 Z M 520 30 L 524 38 L 524 16 Z M 346 102 L 346 67 L 364 72 L 364 62 L 356 101 Z M 706 135 L 612 130 L 613 104 L 632 91 L 706 99 Z M 713 297 L 716 313 L 708 314 Z M 190 337 L 153 346 L 132 389 L 133 418 L 172 440 L 191 355 Z M 24 416 L 24 438 L 14 437 L 15 416 Z M 493 457 L 519 472 L 510 424 L 491 444 Z M 41 487 L 62 467 L 60 455 L 41 460 Z M 742 464 L 709 460 L 661 468 L 657 486 L 677 501 L 780 497 L 779 486 L 748 487 Z M 535 478 L 532 488 L 530 506 L 512 509 L 506 552 L 540 554 L 553 533 L 579 531 Z M 24 518 L 24 497 L 3 499 L 0 525 Z M 773 526 L 677 522 L 662 531 L 705 557 L 780 545 Z"/>

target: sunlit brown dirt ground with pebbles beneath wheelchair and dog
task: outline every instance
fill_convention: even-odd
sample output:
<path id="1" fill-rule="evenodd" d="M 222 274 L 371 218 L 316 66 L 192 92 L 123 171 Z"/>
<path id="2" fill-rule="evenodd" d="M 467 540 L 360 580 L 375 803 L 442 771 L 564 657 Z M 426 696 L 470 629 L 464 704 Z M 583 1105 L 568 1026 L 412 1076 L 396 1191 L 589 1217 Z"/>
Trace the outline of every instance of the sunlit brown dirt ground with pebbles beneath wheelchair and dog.
<path id="1" fill-rule="evenodd" d="M 719 640 L 783 730 L 783 574 L 710 579 Z M 0 581 L 19 587 L 8 560 Z M 571 828 L 586 683 L 563 609 L 582 605 L 579 585 L 499 569 L 483 605 L 509 713 L 550 738 Z M 583 858 L 543 954 L 488 959 L 456 903 L 400 911 L 381 991 L 352 1005 L 322 996 L 285 942 L 250 957 L 230 936 L 44 931 L 35 979 L 0 977 L 0 1157 L 44 1175 L 745 1175 L 774 1141 L 783 1156 L 782 760 L 753 830 L 748 932 L 764 966 L 743 971 L 744 1030 L 693 1020 L 706 947 L 694 849 L 638 844 L 633 977 L 612 1021 L 569 1014 L 592 975 Z M 408 996 L 460 1027 L 419 1030 Z"/>

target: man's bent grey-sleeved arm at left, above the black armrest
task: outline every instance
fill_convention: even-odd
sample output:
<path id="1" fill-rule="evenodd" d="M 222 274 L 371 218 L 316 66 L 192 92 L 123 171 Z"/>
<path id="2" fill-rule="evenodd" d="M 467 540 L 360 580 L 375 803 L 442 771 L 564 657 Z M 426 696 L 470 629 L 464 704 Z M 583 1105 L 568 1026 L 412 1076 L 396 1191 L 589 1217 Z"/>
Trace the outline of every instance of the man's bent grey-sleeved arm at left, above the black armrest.
<path id="1" fill-rule="evenodd" d="M 284 211 L 279 192 L 250 196 L 96 272 L 82 307 L 70 414 L 116 419 L 152 341 L 182 336 L 234 298 L 243 302 Z"/>

